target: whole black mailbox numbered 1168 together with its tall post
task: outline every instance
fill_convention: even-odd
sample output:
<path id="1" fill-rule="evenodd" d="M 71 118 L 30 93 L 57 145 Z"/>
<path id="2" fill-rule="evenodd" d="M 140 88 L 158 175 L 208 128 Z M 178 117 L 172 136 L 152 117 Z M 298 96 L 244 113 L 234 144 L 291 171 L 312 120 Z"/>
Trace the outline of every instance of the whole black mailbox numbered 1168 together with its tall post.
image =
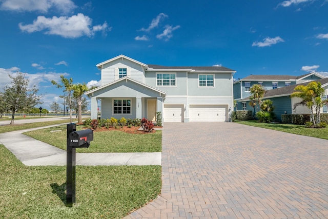
<path id="1" fill-rule="evenodd" d="M 76 131 L 76 124 L 67 124 L 67 180 L 66 180 L 66 204 L 72 207 L 75 203 L 75 164 L 76 148 L 88 148 L 93 141 L 91 129 Z"/>

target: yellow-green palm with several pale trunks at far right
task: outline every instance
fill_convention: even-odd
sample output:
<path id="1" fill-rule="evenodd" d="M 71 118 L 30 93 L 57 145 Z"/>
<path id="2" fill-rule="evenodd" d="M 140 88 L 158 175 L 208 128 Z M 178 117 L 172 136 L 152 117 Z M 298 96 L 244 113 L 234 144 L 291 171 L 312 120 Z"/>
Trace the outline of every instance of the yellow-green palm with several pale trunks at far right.
<path id="1" fill-rule="evenodd" d="M 318 82 L 310 82 L 308 85 L 298 85 L 294 88 L 295 92 L 291 94 L 291 97 L 299 97 L 301 102 L 296 103 L 294 108 L 298 105 L 307 106 L 311 109 L 311 120 L 314 126 L 320 123 L 320 108 L 327 103 L 327 100 L 322 100 L 324 89 Z M 314 118 L 313 108 L 316 110 L 316 120 Z"/>

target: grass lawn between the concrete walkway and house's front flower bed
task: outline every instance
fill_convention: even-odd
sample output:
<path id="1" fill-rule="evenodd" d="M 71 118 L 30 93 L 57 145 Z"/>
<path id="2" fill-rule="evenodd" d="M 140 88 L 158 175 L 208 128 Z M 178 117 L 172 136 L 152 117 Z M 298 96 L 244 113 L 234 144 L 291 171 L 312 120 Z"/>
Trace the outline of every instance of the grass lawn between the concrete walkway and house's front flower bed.
<path id="1" fill-rule="evenodd" d="M 39 141 L 66 150 L 66 125 L 25 132 L 24 134 Z M 76 126 L 81 130 L 83 126 Z M 122 131 L 101 131 L 93 133 L 93 141 L 89 148 L 76 148 L 77 153 L 103 152 L 160 152 L 162 135 L 158 130 L 148 134 L 129 134 Z"/>

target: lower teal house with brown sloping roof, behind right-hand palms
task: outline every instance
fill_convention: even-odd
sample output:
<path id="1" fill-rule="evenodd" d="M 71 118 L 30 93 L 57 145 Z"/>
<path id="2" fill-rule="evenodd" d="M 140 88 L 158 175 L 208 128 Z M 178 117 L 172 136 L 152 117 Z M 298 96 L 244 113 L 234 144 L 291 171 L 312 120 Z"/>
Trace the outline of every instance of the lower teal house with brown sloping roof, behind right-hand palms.
<path id="1" fill-rule="evenodd" d="M 328 78 L 318 79 L 316 82 L 320 82 L 321 87 L 324 88 L 324 96 L 323 99 L 326 99 L 328 96 Z M 278 89 L 268 90 L 267 93 L 264 94 L 264 99 L 271 99 L 273 102 L 273 106 L 275 107 L 274 113 L 277 116 L 277 120 L 281 121 L 282 114 L 310 114 L 311 110 L 306 106 L 297 106 L 295 104 L 300 103 L 302 100 L 298 97 L 291 98 L 291 94 L 295 92 L 295 87 L 298 85 L 308 85 L 309 82 L 305 82 L 302 84 L 295 84 L 288 87 L 282 87 Z M 241 103 L 245 105 L 245 110 L 254 110 L 253 107 L 249 105 L 250 97 L 246 97 L 241 100 Z M 260 109 L 260 108 L 259 108 Z M 328 113 L 327 105 L 324 105 L 321 110 L 322 113 Z"/>

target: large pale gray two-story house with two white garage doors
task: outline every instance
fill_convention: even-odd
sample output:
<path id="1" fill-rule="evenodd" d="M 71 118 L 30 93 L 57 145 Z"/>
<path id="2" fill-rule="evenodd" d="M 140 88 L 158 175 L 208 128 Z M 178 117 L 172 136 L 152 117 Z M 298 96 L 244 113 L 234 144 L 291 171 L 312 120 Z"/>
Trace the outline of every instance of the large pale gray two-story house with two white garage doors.
<path id="1" fill-rule="evenodd" d="M 234 70 L 221 66 L 146 65 L 119 55 L 96 65 L 101 86 L 91 94 L 91 118 L 147 118 L 155 122 L 228 122 Z"/>

